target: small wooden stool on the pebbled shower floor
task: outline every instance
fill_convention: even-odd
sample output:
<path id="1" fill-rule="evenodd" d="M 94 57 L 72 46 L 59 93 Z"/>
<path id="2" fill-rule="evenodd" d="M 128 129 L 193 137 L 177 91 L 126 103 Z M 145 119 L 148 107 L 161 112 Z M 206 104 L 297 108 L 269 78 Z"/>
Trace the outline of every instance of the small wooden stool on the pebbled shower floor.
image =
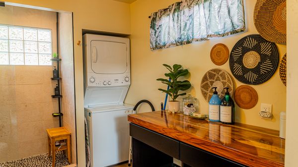
<path id="1" fill-rule="evenodd" d="M 55 167 L 56 151 L 60 151 L 60 150 L 67 150 L 67 157 L 68 157 L 69 163 L 72 164 L 71 133 L 65 127 L 47 129 L 47 133 L 48 133 L 48 143 L 49 143 L 49 157 L 51 155 L 51 150 L 52 150 L 52 158 L 53 158 L 52 167 Z M 67 140 L 67 144 L 66 146 L 62 146 L 59 149 L 59 146 L 57 147 L 55 146 L 55 142 L 60 140 Z"/>

